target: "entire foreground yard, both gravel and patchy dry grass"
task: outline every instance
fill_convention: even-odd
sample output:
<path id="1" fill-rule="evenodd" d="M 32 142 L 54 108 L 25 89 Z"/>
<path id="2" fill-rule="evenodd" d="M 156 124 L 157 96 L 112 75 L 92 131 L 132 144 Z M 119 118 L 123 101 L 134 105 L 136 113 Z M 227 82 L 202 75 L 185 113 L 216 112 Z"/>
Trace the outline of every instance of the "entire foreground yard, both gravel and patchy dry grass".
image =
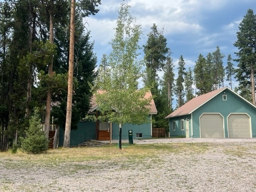
<path id="1" fill-rule="evenodd" d="M 230 183 L 238 181 L 242 185 L 237 189 L 246 188 L 233 191 L 256 187 L 255 143 L 125 145 L 122 150 L 106 144 L 36 155 L 0 153 L 0 191 L 138 191 L 143 185 L 144 191 L 202 191 L 210 186 L 208 191 L 223 192 L 232 191 Z M 213 190 L 215 186 L 221 190 Z"/>

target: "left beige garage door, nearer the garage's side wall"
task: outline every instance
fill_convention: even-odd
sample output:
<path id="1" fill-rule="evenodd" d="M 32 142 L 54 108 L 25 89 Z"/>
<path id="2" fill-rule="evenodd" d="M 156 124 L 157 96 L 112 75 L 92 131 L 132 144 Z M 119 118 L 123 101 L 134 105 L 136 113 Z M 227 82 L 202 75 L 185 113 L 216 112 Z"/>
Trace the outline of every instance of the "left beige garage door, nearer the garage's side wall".
<path id="1" fill-rule="evenodd" d="M 223 117 L 220 114 L 203 114 L 200 131 L 201 138 L 224 138 Z"/>

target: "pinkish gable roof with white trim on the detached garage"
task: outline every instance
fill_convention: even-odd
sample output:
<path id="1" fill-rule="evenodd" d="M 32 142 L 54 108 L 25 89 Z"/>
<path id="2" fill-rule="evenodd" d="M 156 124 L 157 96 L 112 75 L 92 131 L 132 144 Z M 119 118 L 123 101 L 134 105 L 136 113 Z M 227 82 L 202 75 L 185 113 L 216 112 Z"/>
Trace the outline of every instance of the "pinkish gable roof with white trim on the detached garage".
<path id="1" fill-rule="evenodd" d="M 209 100 L 211 100 L 212 98 L 214 98 L 215 96 L 217 96 L 218 94 L 220 94 L 222 91 L 224 91 L 226 89 L 230 90 L 232 93 L 236 94 L 237 96 L 242 98 L 244 101 L 248 102 L 246 99 L 241 97 L 239 94 L 237 94 L 236 92 L 234 92 L 230 88 L 223 87 L 221 89 L 218 89 L 218 90 L 215 90 L 215 91 L 212 91 L 212 92 L 209 92 L 209 93 L 206 93 L 206 94 L 203 94 L 203 95 L 200 95 L 200 96 L 197 96 L 197 97 L 193 98 L 192 100 L 190 100 L 186 104 L 182 105 L 180 108 L 176 109 L 170 115 L 168 115 L 166 117 L 166 119 L 191 114 L 196 109 L 198 109 L 200 106 L 204 105 L 206 102 L 208 102 Z M 248 103 L 250 105 L 254 106 L 252 103 L 250 103 L 250 102 L 248 102 Z M 254 108 L 256 108 L 256 106 L 254 106 Z"/>

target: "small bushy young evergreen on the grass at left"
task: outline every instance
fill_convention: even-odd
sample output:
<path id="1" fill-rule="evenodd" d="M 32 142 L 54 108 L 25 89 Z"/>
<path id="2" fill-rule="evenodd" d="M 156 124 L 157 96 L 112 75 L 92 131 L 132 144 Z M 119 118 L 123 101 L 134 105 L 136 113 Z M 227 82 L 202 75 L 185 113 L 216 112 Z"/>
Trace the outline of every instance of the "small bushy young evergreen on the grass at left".
<path id="1" fill-rule="evenodd" d="M 25 131 L 26 137 L 21 138 L 21 149 L 26 153 L 38 154 L 48 150 L 48 138 L 40 126 L 38 108 L 34 108 L 34 115 L 29 120 L 29 128 Z"/>

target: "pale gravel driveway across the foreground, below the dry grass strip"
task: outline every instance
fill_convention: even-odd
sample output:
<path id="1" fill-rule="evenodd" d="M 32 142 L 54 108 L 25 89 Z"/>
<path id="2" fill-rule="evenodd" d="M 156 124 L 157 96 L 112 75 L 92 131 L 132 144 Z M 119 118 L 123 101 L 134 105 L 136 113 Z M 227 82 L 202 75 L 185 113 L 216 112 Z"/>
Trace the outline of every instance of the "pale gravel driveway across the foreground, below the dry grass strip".
<path id="1" fill-rule="evenodd" d="M 210 143 L 156 158 L 5 168 L 1 192 L 256 192 L 256 143 Z M 19 163 L 19 162 L 17 162 Z"/>

